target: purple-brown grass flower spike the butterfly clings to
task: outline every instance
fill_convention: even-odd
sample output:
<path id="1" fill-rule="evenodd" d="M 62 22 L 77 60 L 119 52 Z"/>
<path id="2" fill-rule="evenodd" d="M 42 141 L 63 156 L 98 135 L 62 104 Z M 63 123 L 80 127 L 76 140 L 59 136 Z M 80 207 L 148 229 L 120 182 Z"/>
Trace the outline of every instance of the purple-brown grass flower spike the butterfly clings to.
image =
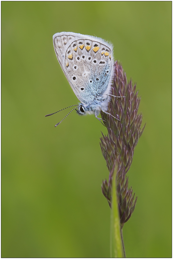
<path id="1" fill-rule="evenodd" d="M 104 125 L 108 129 L 108 135 L 100 138 L 100 147 L 109 170 L 109 180 L 103 181 L 102 192 L 111 207 L 112 176 L 115 165 L 117 166 L 117 197 L 120 214 L 121 229 L 132 215 L 135 209 L 137 197 L 132 188 L 128 188 L 126 173 L 130 169 L 134 149 L 139 137 L 145 128 L 141 129 L 142 114 L 137 114 L 140 97 L 135 92 L 136 84 L 127 82 L 126 74 L 119 62 L 115 62 L 115 78 L 112 83 L 112 95 L 125 96 L 125 98 L 112 97 L 109 103 L 109 112 L 112 116 L 101 112 Z"/>

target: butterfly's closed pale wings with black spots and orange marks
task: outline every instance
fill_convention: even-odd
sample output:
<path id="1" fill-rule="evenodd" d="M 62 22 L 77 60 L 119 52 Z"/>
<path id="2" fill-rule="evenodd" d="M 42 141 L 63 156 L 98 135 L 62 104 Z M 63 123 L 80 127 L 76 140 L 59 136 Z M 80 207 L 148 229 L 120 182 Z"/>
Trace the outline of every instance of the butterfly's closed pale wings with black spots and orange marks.
<path id="1" fill-rule="evenodd" d="M 80 102 L 90 103 L 110 93 L 114 72 L 111 44 L 89 35 L 61 32 L 53 35 L 53 45 Z"/>

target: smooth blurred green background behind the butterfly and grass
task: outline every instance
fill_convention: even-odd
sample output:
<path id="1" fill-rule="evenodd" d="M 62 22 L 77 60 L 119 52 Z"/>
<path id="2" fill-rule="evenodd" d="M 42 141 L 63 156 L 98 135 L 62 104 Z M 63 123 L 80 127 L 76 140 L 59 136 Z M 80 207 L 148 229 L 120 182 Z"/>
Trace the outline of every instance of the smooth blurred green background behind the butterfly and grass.
<path id="1" fill-rule="evenodd" d="M 114 45 L 142 96 L 142 137 L 128 172 L 138 196 L 127 257 L 171 257 L 172 2 L 1 2 L 2 257 L 110 257 L 107 129 L 78 102 L 53 49 L 61 31 Z"/>

